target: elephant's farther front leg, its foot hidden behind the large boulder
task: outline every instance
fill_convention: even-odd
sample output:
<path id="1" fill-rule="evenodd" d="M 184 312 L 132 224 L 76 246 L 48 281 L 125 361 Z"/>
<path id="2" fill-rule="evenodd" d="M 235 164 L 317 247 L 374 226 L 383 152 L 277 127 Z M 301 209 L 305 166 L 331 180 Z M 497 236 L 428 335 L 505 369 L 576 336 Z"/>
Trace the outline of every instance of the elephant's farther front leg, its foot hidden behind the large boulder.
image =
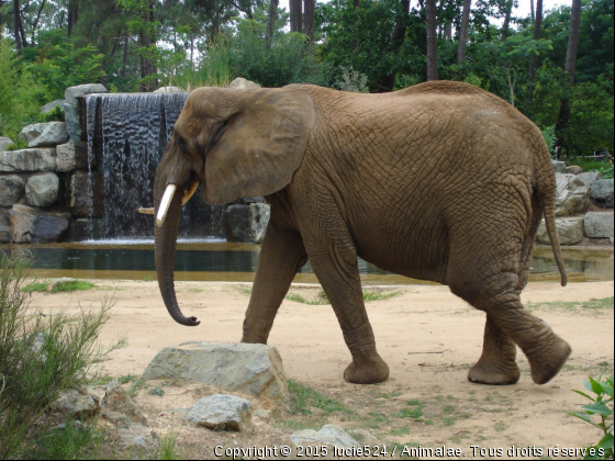
<path id="1" fill-rule="evenodd" d="M 258 258 L 242 342 L 267 344 L 276 314 L 306 260 L 301 235 L 270 221 Z"/>

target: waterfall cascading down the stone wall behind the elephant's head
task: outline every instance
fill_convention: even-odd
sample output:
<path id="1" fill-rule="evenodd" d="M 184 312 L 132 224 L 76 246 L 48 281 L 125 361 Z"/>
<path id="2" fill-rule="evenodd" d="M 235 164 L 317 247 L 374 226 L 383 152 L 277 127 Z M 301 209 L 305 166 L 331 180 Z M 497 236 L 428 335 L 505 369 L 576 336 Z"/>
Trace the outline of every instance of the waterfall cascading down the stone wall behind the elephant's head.
<path id="1" fill-rule="evenodd" d="M 136 93 L 87 98 L 88 153 L 98 150 L 104 184 L 104 239 L 153 238 L 153 216 L 139 214 L 137 209 L 153 206 L 156 168 L 187 97 Z M 180 237 L 224 237 L 221 222 L 222 207 L 204 204 L 197 192 L 182 209 Z"/>

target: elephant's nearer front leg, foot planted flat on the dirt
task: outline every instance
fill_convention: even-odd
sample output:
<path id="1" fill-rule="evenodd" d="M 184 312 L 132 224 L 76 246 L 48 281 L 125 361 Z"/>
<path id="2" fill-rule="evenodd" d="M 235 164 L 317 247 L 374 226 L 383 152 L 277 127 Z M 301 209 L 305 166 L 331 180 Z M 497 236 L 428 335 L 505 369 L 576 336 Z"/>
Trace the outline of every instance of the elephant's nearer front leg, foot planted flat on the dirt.
<path id="1" fill-rule="evenodd" d="M 364 303 L 357 251 L 347 233 L 320 235 L 305 241 L 312 268 L 328 296 L 353 355 L 344 379 L 374 384 L 389 378 L 389 367 L 376 350 L 376 339 Z"/>

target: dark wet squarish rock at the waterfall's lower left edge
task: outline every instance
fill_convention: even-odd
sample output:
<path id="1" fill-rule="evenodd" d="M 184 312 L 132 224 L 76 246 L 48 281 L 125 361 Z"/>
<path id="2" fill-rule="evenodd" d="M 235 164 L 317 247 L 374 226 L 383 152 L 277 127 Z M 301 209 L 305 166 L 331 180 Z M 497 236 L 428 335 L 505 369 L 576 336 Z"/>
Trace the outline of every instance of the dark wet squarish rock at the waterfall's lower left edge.
<path id="1" fill-rule="evenodd" d="M 74 216 L 100 217 L 103 212 L 103 180 L 101 171 L 76 171 L 70 177 L 70 213 Z"/>

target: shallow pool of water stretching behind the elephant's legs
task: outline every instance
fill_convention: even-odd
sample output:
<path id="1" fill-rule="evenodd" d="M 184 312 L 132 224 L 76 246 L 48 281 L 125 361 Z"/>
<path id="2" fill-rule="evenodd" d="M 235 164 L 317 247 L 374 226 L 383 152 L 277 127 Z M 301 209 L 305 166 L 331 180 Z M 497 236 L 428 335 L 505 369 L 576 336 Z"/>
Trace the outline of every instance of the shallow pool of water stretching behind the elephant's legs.
<path id="1" fill-rule="evenodd" d="M 88 279 L 154 280 L 156 266 L 150 241 L 0 245 L 0 250 L 26 251 L 32 258 L 32 276 Z M 259 245 L 224 241 L 180 241 L 175 265 L 176 280 L 251 281 L 258 263 Z M 563 248 L 566 268 L 572 282 L 613 280 L 612 248 Z M 385 272 L 359 260 L 364 283 L 424 284 L 420 280 Z M 560 277 L 549 247 L 536 247 L 533 281 L 559 282 Z M 316 283 L 310 263 L 295 282 Z"/>

